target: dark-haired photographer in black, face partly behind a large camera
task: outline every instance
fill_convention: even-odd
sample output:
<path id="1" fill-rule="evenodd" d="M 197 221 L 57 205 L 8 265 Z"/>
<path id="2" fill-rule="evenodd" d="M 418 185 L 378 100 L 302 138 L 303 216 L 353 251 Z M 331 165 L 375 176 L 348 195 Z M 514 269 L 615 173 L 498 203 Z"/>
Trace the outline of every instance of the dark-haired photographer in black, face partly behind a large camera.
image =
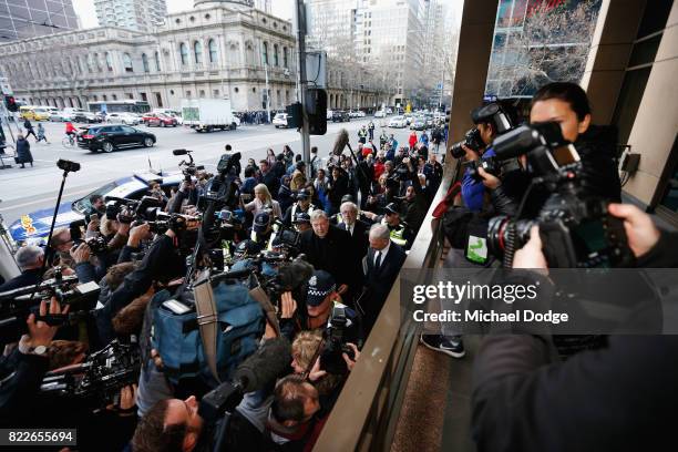
<path id="1" fill-rule="evenodd" d="M 532 99 L 530 122 L 556 122 L 563 137 L 574 143 L 582 157 L 585 193 L 622 201 L 617 170 L 617 129 L 590 124 L 586 92 L 576 83 L 555 82 L 542 86 Z"/>

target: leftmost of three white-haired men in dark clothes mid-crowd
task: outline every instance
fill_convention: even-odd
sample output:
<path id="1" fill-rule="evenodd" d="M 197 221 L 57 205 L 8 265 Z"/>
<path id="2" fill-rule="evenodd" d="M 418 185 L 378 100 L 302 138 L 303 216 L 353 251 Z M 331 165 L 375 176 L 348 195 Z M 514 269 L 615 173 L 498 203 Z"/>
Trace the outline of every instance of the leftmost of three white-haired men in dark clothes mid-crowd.
<path id="1" fill-rule="evenodd" d="M 300 235 L 299 250 L 316 270 L 326 270 L 337 281 L 337 291 L 343 296 L 360 285 L 360 259 L 356 257 L 351 237 L 346 230 L 329 223 L 327 214 L 316 209 L 310 214 L 311 229 Z"/>

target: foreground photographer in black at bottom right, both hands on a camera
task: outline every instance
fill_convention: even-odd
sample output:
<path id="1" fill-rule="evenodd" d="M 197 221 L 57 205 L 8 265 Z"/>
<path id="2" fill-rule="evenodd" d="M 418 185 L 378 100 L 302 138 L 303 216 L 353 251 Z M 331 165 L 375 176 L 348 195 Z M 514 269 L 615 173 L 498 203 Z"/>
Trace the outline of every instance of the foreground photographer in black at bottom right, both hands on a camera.
<path id="1" fill-rule="evenodd" d="M 608 209 L 624 220 L 639 266 L 678 265 L 675 233 L 635 206 Z M 546 269 L 536 226 L 513 267 Z M 610 336 L 607 347 L 557 362 L 551 336 L 487 336 L 473 379 L 477 450 L 661 450 L 678 420 L 678 364 L 666 358 L 677 352 L 676 336 Z"/>

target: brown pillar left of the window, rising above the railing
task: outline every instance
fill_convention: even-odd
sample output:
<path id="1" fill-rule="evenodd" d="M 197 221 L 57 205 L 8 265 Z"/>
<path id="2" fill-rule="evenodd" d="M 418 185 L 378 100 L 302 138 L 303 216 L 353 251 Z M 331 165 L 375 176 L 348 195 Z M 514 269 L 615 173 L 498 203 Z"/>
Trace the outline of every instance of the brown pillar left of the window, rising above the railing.
<path id="1" fill-rule="evenodd" d="M 448 145 L 471 126 L 471 110 L 483 102 L 499 0 L 464 1 L 452 91 Z"/>

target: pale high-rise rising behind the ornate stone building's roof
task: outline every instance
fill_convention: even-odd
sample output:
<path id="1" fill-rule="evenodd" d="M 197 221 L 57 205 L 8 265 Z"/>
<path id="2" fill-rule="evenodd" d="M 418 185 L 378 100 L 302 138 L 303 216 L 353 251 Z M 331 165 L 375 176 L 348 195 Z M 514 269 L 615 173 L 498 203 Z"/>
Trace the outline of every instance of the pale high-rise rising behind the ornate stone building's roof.
<path id="1" fill-rule="evenodd" d="M 121 27 L 136 31 L 151 31 L 167 16 L 165 0 L 94 0 L 101 27 Z"/>

